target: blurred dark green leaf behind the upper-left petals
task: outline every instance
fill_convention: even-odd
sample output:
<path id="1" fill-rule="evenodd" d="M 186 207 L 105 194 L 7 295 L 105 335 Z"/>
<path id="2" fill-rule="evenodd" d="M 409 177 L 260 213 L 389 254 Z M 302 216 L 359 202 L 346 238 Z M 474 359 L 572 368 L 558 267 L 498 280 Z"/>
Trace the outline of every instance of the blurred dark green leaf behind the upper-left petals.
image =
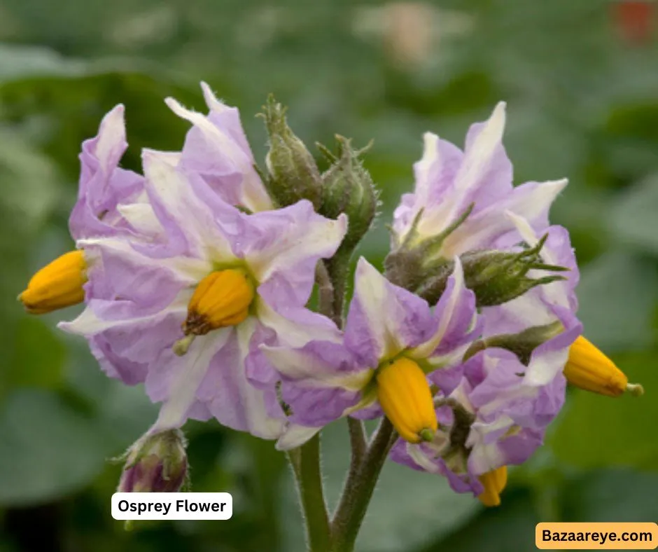
<path id="1" fill-rule="evenodd" d="M 203 105 L 196 82 L 139 60 L 99 61 L 80 76 L 0 81 L 4 117 L 19 121 L 25 136 L 57 160 L 71 184 L 80 171 L 80 143 L 97 134 L 105 113 L 118 103 L 125 104 L 130 142 L 123 167 L 141 170 L 143 147 L 180 149 L 189 125 L 167 108 L 168 96 L 188 106 Z M 74 199 L 71 188 L 67 210 Z"/>

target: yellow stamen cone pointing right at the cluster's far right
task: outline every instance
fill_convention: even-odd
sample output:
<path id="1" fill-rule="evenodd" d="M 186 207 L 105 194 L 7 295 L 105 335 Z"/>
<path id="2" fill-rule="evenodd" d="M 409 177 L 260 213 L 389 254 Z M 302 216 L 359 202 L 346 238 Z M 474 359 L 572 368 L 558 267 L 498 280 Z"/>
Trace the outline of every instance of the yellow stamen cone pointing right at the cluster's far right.
<path id="1" fill-rule="evenodd" d="M 644 392 L 641 385 L 629 384 L 615 363 L 582 336 L 569 349 L 564 375 L 571 385 L 602 395 L 619 396 L 628 391 L 638 396 Z"/>

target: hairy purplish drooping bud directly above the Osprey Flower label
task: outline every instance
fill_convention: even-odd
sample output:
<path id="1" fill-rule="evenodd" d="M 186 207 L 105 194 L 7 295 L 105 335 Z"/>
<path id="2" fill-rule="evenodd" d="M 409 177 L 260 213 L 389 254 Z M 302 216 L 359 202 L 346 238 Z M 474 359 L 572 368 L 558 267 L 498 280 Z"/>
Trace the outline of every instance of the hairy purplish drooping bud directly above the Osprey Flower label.
<path id="1" fill-rule="evenodd" d="M 186 446 L 179 429 L 141 437 L 127 451 L 117 492 L 178 492 L 188 473 Z"/>

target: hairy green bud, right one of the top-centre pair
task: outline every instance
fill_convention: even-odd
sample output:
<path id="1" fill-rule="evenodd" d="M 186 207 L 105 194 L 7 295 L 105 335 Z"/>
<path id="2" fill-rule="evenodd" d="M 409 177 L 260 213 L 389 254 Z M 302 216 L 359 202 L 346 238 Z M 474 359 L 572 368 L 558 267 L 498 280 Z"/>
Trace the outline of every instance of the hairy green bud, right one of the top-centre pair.
<path id="1" fill-rule="evenodd" d="M 378 205 L 377 189 L 359 158 L 370 145 L 355 150 L 349 139 L 337 136 L 336 140 L 337 157 L 320 146 L 332 165 L 322 174 L 322 196 L 318 212 L 330 219 L 337 219 L 341 213 L 348 216 L 349 228 L 341 248 L 353 251 L 370 230 L 374 220 Z"/>

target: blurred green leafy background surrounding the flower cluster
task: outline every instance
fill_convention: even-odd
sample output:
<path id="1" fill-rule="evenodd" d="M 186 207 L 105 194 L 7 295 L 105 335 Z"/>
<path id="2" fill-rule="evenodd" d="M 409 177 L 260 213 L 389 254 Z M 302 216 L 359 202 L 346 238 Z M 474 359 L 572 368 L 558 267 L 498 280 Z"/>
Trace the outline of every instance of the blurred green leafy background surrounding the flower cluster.
<path id="1" fill-rule="evenodd" d="M 15 297 L 71 249 L 80 142 L 114 104 L 130 152 L 179 149 L 187 123 L 162 99 L 204 109 L 200 80 L 241 109 L 259 162 L 269 92 L 307 144 L 374 138 L 366 164 L 381 222 L 412 187 L 421 134 L 463 144 L 468 124 L 508 103 L 515 181 L 569 177 L 552 219 L 582 265 L 586 335 L 642 399 L 570 390 L 542 448 L 485 511 L 442 479 L 387 466 L 364 552 L 531 551 L 538 521 L 658 520 L 658 6 L 596 0 L 356 4 L 257 0 L 0 0 L 0 552 L 302 551 L 295 494 L 272 443 L 190 423 L 193 488 L 229 491 L 225 522 L 111 519 L 116 457 L 146 430 L 143 390 L 99 371 Z M 346 467 L 346 428 L 325 431 L 328 496 Z"/>

